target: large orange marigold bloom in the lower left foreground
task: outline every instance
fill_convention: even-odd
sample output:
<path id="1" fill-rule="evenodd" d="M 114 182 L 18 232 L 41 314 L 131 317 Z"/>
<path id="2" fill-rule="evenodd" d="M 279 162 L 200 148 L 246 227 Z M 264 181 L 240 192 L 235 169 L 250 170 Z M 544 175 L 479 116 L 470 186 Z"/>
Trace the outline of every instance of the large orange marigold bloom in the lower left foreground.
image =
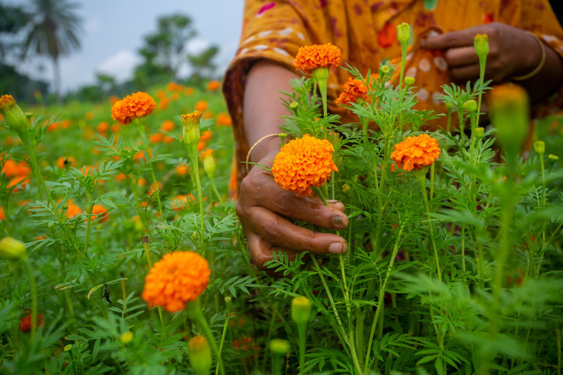
<path id="1" fill-rule="evenodd" d="M 209 274 L 207 260 L 196 252 L 169 252 L 146 275 L 142 299 L 171 313 L 183 310 L 207 288 Z"/>

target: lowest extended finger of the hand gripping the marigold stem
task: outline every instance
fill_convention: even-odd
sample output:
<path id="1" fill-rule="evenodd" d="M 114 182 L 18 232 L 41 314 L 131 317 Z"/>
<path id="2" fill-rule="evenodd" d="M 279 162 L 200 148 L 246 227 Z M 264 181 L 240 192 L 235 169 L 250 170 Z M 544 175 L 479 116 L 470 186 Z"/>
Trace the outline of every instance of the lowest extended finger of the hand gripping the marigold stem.
<path id="1" fill-rule="evenodd" d="M 343 254 L 348 250 L 344 238 L 299 227 L 264 207 L 252 207 L 249 214 L 254 232 L 274 245 L 312 254 Z"/>

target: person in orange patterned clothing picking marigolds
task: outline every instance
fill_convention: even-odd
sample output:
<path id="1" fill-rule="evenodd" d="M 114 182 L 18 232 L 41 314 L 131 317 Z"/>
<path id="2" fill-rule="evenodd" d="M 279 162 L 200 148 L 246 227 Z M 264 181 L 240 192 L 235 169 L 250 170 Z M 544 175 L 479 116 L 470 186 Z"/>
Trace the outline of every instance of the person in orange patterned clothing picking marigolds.
<path id="1" fill-rule="evenodd" d="M 517 81 L 535 103 L 536 116 L 563 108 L 558 94 L 563 92 L 563 29 L 547 0 L 247 0 L 224 93 L 234 121 L 241 182 L 237 213 L 258 268 L 264 269 L 272 250 L 280 247 L 294 256 L 298 251 L 342 254 L 348 246 L 336 234 L 314 233 L 284 219 L 343 229 L 348 219 L 341 202 L 327 207 L 315 198 L 296 197 L 280 188 L 269 171 L 253 168 L 245 175 L 240 164 L 249 146 L 279 131 L 278 117 L 286 114 L 279 90 L 289 91 L 288 80 L 299 77 L 293 68 L 298 48 L 330 42 L 341 48 L 342 65 L 364 74 L 377 71 L 380 61 L 401 55 L 396 39 L 401 22 L 412 25 L 415 36 L 405 65 L 406 75 L 417 82 L 421 102 L 415 108 L 445 112 L 437 100 L 440 85 L 479 77 L 473 37 L 483 33 L 490 46 L 486 79 Z M 342 69 L 330 71 L 329 97 L 338 96 L 348 76 Z M 336 106 L 330 110 L 346 115 Z M 250 160 L 271 166 L 278 150 L 279 139 L 268 138 L 254 147 Z"/>

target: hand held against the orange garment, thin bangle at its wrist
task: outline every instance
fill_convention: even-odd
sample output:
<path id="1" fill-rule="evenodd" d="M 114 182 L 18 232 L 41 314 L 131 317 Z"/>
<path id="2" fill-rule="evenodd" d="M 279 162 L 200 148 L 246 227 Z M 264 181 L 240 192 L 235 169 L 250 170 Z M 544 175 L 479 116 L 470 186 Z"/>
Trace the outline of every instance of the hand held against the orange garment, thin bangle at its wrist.
<path id="1" fill-rule="evenodd" d="M 479 79 L 479 57 L 473 48 L 476 34 L 489 37 L 485 76 L 493 82 L 528 74 L 542 60 L 542 49 L 537 39 L 522 29 L 500 22 L 430 37 L 422 40 L 422 47 L 445 49 L 444 58 L 454 82 L 475 81 Z"/>

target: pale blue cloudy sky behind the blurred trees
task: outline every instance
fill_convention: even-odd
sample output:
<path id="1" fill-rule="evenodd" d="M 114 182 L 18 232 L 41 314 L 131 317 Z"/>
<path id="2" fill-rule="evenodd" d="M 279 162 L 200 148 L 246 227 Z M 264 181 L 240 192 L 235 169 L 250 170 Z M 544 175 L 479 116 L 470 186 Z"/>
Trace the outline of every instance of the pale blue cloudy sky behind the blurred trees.
<path id="1" fill-rule="evenodd" d="M 140 61 L 137 49 L 144 35 L 157 29 L 161 15 L 191 16 L 198 35 L 187 48 L 202 51 L 217 44 L 216 64 L 224 71 L 238 47 L 244 0 L 71 0 L 80 5 L 83 19 L 81 49 L 61 58 L 62 91 L 95 83 L 96 72 L 114 76 L 118 82 L 131 78 Z M 5 4 L 29 6 L 30 0 L 0 0 Z M 52 64 L 33 57 L 17 69 L 52 83 Z M 189 72 L 181 72 L 187 74 Z M 51 84 L 51 88 L 53 85 Z"/>

